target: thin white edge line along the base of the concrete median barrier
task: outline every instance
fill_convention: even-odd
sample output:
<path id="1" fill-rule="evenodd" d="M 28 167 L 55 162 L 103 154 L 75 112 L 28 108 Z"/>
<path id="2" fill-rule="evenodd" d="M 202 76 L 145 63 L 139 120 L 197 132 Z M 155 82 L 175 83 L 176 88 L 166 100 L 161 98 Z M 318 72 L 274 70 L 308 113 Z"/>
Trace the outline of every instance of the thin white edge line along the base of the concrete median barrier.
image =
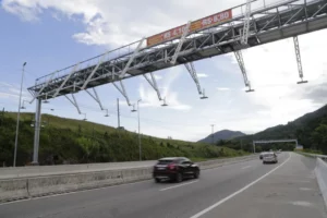
<path id="1" fill-rule="evenodd" d="M 25 199 L 17 199 L 17 201 L 12 201 L 12 202 L 0 203 L 0 206 L 8 205 L 8 204 L 21 203 L 21 202 L 41 199 L 41 198 L 57 197 L 57 196 L 61 196 L 61 195 L 78 194 L 78 193 L 83 193 L 83 192 L 92 192 L 92 191 L 96 191 L 96 190 L 107 190 L 107 189 L 125 186 L 125 185 L 133 185 L 133 184 L 145 183 L 145 182 L 149 182 L 149 180 L 140 181 L 140 182 L 131 182 L 131 183 L 125 183 L 125 184 L 116 184 L 116 185 L 104 186 L 104 187 L 95 187 L 95 189 L 89 189 L 89 190 L 73 191 L 73 192 L 66 192 L 66 193 L 60 193 L 60 194 L 52 194 L 52 195 L 46 195 L 46 196 L 40 196 L 40 197 L 31 197 L 31 198 L 25 198 Z"/>

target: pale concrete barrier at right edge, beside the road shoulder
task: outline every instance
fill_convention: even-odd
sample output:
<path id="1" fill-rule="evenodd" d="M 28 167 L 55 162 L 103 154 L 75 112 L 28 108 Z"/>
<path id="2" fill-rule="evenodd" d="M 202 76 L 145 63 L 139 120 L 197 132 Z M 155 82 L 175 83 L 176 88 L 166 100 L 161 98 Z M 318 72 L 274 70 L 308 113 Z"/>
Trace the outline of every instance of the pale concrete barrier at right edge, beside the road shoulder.
<path id="1" fill-rule="evenodd" d="M 315 174 L 327 208 L 327 164 L 319 157 L 317 158 Z"/>

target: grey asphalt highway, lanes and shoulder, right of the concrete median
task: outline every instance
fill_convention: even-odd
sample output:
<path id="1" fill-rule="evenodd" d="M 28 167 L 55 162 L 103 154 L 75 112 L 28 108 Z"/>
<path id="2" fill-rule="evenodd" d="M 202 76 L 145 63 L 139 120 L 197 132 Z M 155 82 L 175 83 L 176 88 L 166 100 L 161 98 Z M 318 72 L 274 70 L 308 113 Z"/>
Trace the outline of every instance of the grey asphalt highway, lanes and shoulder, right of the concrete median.
<path id="1" fill-rule="evenodd" d="M 198 180 L 119 186 L 0 205 L 1 218 L 327 217 L 315 160 L 294 153 L 202 171 Z"/>

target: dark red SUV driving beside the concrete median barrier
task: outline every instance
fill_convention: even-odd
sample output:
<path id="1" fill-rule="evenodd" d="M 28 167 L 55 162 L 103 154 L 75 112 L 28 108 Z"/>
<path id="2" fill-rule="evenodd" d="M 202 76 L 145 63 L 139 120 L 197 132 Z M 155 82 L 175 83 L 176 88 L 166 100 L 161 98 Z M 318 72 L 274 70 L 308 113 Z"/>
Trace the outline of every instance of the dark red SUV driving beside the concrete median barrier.
<path id="1" fill-rule="evenodd" d="M 166 157 L 158 160 L 154 167 L 153 177 L 156 182 L 173 180 L 181 182 L 184 178 L 199 175 L 199 168 L 185 157 Z"/>

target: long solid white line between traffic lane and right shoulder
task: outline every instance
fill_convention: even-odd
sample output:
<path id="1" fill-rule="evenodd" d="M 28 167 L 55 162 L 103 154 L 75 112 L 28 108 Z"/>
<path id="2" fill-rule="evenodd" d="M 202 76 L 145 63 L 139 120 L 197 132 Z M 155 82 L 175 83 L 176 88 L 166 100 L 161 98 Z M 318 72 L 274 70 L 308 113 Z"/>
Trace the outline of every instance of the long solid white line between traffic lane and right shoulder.
<path id="1" fill-rule="evenodd" d="M 274 168 L 272 170 L 270 170 L 269 172 L 267 172 L 267 173 L 264 174 L 263 177 L 256 179 L 255 181 L 253 181 L 253 182 L 251 182 L 250 184 L 245 185 L 245 186 L 242 187 L 241 190 L 239 190 L 239 191 L 232 193 L 231 195 L 229 195 L 229 196 L 227 196 L 227 197 L 220 199 L 220 201 L 217 202 L 216 204 L 214 204 L 214 205 L 211 205 L 211 206 L 205 208 L 204 210 L 197 213 L 196 215 L 193 215 L 193 216 L 190 217 L 190 218 L 198 218 L 198 217 L 203 216 L 204 214 L 210 211 L 210 210 L 214 209 L 215 207 L 217 207 L 217 206 L 223 204 L 223 203 L 227 202 L 228 199 L 230 199 L 230 198 L 237 196 L 238 194 L 242 193 L 243 191 L 247 190 L 249 187 L 251 187 L 252 185 L 254 185 L 254 184 L 257 183 L 258 181 L 263 180 L 264 178 L 266 178 L 267 175 L 269 175 L 270 173 L 272 173 L 274 171 L 276 171 L 278 168 L 282 167 L 284 164 L 287 164 L 287 162 L 290 160 L 290 158 L 291 158 L 291 154 L 289 154 L 289 158 L 288 158 L 286 161 L 283 161 L 281 165 L 277 166 L 276 168 Z"/>

